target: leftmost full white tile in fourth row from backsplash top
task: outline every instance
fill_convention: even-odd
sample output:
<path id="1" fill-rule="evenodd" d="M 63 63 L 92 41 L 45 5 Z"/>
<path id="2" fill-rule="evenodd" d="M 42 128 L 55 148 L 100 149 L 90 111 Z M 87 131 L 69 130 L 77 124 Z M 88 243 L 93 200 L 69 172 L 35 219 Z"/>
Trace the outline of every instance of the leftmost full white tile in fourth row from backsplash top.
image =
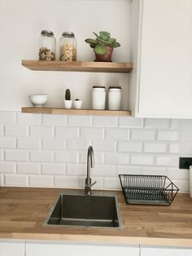
<path id="1" fill-rule="evenodd" d="M 28 161 L 28 150 L 7 149 L 5 150 L 5 161 Z"/>

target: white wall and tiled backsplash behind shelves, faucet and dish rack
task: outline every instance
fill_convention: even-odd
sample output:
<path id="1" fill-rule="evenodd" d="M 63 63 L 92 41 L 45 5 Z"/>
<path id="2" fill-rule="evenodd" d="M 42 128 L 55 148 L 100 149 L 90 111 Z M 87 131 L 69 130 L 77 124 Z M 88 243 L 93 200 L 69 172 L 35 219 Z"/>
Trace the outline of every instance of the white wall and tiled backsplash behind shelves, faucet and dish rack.
<path id="1" fill-rule="evenodd" d="M 67 87 L 89 107 L 95 84 L 123 86 L 126 108 L 127 74 L 33 72 L 20 63 L 37 58 L 41 29 L 53 30 L 57 41 L 63 31 L 76 33 L 78 60 L 94 59 L 84 42 L 92 31 L 109 30 L 121 43 L 113 59 L 129 61 L 129 11 L 124 0 L 0 0 L 2 186 L 83 187 L 86 151 L 93 144 L 95 188 L 120 188 L 118 174 L 142 173 L 167 174 L 189 191 L 189 170 L 179 170 L 178 161 L 191 156 L 190 120 L 20 113 L 21 106 L 30 106 L 31 93 L 48 92 L 47 106 L 63 107 Z"/>

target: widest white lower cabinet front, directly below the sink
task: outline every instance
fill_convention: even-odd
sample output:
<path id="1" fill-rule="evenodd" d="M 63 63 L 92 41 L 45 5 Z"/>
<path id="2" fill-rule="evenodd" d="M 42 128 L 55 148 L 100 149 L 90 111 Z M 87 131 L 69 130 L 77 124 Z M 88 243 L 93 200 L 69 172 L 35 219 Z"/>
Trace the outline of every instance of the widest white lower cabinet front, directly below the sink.
<path id="1" fill-rule="evenodd" d="M 62 242 L 26 242 L 26 256 L 139 256 L 139 248 L 123 245 L 89 245 Z"/>

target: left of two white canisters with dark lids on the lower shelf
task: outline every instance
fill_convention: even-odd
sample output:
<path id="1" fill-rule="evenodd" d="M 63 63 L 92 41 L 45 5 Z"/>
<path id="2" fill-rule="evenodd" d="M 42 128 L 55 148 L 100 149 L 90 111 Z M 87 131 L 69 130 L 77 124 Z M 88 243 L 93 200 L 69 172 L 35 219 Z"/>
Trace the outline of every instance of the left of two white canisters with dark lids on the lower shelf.
<path id="1" fill-rule="evenodd" d="M 106 90 L 105 86 L 93 86 L 92 109 L 105 109 Z"/>

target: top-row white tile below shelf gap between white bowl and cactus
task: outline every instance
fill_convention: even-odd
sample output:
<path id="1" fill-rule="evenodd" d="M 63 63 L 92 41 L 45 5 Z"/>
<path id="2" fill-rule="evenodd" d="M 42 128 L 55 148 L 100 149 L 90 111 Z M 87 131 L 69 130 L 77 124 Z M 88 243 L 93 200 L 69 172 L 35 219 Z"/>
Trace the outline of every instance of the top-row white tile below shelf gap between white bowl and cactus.
<path id="1" fill-rule="evenodd" d="M 67 125 L 67 116 L 65 116 L 65 115 L 42 115 L 42 125 L 66 126 Z"/>

